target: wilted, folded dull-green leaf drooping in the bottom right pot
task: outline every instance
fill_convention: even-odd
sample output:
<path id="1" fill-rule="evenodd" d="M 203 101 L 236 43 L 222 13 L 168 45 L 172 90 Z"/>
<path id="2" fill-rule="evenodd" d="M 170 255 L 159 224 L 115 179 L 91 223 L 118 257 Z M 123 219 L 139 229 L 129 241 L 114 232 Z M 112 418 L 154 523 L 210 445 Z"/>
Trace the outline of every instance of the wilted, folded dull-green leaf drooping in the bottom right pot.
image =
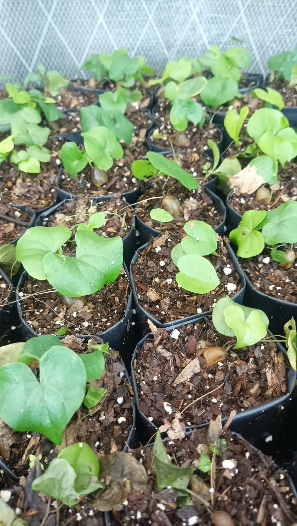
<path id="1" fill-rule="evenodd" d="M 157 432 L 154 442 L 154 464 L 156 470 L 157 487 L 159 491 L 171 486 L 176 490 L 185 490 L 189 485 L 194 468 L 174 466 L 167 457 L 163 446 L 161 433 Z"/>

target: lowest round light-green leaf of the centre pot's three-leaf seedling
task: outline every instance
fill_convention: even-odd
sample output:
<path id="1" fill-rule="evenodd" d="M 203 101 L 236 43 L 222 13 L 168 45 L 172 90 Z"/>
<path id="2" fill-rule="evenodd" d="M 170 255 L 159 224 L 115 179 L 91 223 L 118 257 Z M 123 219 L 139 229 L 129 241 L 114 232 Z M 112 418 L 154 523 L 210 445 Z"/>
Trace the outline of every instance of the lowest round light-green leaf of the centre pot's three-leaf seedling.
<path id="1" fill-rule="evenodd" d="M 206 294 L 220 285 L 216 271 L 211 262 L 196 254 L 187 254 L 177 261 L 177 272 L 175 279 L 185 290 Z"/>

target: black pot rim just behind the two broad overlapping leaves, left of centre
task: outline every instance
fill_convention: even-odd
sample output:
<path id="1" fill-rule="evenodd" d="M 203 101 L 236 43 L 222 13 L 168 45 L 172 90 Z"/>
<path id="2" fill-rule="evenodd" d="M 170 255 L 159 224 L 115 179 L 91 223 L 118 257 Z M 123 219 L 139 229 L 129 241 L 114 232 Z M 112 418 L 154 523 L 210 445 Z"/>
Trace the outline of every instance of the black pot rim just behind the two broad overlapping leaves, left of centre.
<path id="1" fill-rule="evenodd" d="M 36 221 L 36 226 L 46 226 L 47 220 L 50 216 L 55 214 L 62 206 L 64 206 L 66 203 L 70 203 L 71 201 L 79 200 L 80 198 L 74 198 L 74 199 L 64 199 L 60 203 L 57 203 L 56 205 L 52 206 L 50 209 L 48 209 L 46 212 L 38 216 L 38 219 Z M 102 197 L 90 197 L 89 200 L 93 201 L 93 203 L 100 204 L 100 203 L 106 203 L 106 201 L 109 201 L 112 199 L 112 196 L 102 196 Z M 122 201 L 123 206 L 125 206 L 125 202 L 119 198 L 120 201 Z M 132 216 L 132 224 L 130 230 L 127 232 L 125 237 L 123 237 L 123 251 L 124 251 L 124 262 L 127 265 L 127 267 L 130 265 L 130 262 L 135 254 L 135 214 L 134 210 L 131 207 L 131 216 Z M 79 222 L 79 220 L 77 220 Z M 63 223 L 64 226 L 66 226 L 66 223 Z"/>

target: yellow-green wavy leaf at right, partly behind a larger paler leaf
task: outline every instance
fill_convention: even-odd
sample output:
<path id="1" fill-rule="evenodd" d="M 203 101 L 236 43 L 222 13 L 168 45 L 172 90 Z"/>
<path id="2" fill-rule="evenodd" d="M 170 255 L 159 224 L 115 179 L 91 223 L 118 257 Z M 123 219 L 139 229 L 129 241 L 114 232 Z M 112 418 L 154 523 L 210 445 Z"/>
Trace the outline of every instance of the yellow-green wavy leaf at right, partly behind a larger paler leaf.
<path id="1" fill-rule="evenodd" d="M 261 254 L 264 248 L 264 237 L 259 232 L 259 225 L 265 215 L 264 210 L 248 210 L 244 212 L 240 225 L 231 230 L 229 239 L 238 247 L 237 256 L 250 258 Z"/>

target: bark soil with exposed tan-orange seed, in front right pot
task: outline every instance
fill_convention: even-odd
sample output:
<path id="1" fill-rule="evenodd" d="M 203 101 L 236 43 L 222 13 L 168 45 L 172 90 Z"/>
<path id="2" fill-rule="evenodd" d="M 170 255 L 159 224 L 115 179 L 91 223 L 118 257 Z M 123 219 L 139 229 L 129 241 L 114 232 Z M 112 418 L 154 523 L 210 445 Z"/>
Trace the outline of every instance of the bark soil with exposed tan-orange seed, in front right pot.
<path id="1" fill-rule="evenodd" d="M 134 362 L 140 410 L 167 431 L 174 419 L 183 426 L 196 426 L 288 392 L 288 366 L 275 343 L 261 341 L 233 349 L 235 342 L 220 335 L 209 318 L 171 334 L 157 329 Z M 219 352 L 207 351 L 222 346 Z M 207 352 L 215 352 L 217 365 L 207 367 Z"/>

